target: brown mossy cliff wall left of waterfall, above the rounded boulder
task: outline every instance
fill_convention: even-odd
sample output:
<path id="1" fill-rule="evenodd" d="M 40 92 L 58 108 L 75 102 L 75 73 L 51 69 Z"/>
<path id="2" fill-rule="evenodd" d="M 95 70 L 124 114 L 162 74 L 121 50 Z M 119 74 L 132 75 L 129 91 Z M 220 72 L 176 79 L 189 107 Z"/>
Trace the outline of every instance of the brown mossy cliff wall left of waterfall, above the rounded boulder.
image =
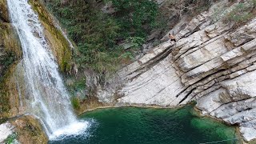
<path id="1" fill-rule="evenodd" d="M 13 81 L 13 72 L 21 58 L 22 49 L 18 35 L 10 24 L 6 0 L 2 0 L 0 2 L 0 122 L 18 114 L 18 91 Z"/>

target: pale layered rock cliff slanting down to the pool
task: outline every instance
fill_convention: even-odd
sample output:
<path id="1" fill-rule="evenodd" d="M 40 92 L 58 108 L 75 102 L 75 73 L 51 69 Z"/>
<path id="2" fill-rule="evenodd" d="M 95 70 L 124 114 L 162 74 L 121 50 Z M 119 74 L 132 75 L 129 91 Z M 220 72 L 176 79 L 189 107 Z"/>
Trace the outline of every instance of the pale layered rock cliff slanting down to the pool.
<path id="1" fill-rule="evenodd" d="M 236 28 L 222 21 L 237 5 L 214 4 L 176 34 L 178 42 L 162 42 L 120 70 L 116 105 L 196 101 L 202 114 L 238 124 L 246 141 L 256 138 L 256 18 Z M 100 94 L 102 102 L 114 99 L 111 93 Z"/>

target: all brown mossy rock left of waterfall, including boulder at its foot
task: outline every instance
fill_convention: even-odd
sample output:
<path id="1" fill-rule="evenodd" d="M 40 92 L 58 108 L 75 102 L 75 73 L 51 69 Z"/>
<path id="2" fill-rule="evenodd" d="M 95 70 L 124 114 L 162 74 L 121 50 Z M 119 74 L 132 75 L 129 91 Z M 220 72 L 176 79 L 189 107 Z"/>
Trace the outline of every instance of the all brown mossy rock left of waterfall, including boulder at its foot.
<path id="1" fill-rule="evenodd" d="M 10 23 L 6 0 L 0 1 L 0 143 L 46 143 L 47 138 L 41 125 L 24 114 L 22 99 L 25 93 L 17 86 L 22 81 L 22 48 Z M 19 83 L 20 82 L 20 83 Z M 21 83 L 22 82 L 22 83 Z M 12 119 L 9 119 L 12 118 Z M 6 122 L 9 120 L 9 122 Z M 3 123 L 2 122 L 6 122 Z M 34 130 L 32 134 L 30 129 Z"/>

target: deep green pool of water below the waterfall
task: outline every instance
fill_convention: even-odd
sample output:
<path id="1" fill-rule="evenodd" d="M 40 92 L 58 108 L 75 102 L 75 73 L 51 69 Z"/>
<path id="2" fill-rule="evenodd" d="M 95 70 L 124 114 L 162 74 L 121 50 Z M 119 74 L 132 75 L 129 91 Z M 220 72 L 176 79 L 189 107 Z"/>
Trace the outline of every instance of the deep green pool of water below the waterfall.
<path id="1" fill-rule="evenodd" d="M 82 114 L 80 118 L 93 121 L 86 134 L 49 143 L 198 144 L 237 137 L 233 126 L 212 118 L 199 118 L 193 106 L 179 109 L 109 108 Z"/>

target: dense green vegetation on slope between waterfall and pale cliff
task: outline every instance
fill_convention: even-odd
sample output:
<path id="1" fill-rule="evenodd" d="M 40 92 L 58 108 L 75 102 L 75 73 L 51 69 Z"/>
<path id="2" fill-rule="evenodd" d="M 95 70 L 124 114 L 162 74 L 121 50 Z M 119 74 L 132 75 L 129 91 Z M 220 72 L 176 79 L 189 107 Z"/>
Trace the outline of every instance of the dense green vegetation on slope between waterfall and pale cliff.
<path id="1" fill-rule="evenodd" d="M 149 0 L 112 1 L 114 14 L 103 14 L 98 3 L 89 0 L 48 1 L 47 6 L 65 26 L 78 45 L 77 63 L 100 73 L 116 70 L 132 58 L 134 50 L 118 44 L 135 39 L 141 46 L 146 35 L 156 26 L 158 5 Z"/>

